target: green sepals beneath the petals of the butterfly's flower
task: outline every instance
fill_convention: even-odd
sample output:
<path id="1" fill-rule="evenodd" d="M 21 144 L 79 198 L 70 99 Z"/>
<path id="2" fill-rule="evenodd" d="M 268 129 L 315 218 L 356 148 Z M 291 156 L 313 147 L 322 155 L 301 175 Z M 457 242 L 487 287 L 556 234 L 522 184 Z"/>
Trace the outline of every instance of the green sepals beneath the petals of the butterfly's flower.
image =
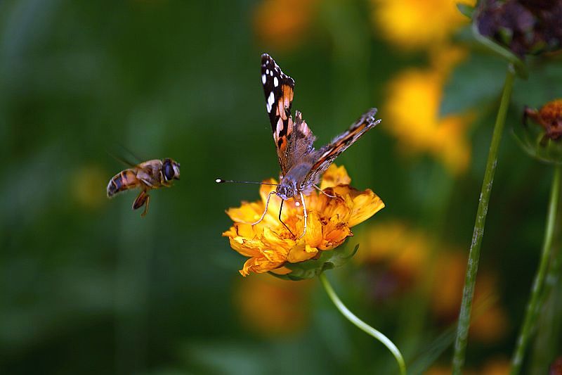
<path id="1" fill-rule="evenodd" d="M 334 250 L 325 250 L 320 253 L 318 259 L 306 260 L 298 263 L 288 263 L 285 265 L 290 272 L 287 274 L 276 274 L 269 272 L 275 277 L 284 280 L 299 281 L 313 279 L 327 269 L 334 269 L 345 265 L 353 255 L 357 253 L 359 244 L 352 246 L 340 246 Z"/>

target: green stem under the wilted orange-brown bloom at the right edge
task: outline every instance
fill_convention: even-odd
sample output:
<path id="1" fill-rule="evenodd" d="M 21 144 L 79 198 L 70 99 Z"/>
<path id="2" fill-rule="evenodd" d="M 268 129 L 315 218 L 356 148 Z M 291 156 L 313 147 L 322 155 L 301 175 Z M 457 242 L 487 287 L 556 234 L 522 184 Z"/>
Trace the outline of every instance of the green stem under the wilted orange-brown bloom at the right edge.
<path id="1" fill-rule="evenodd" d="M 542 255 L 540 259 L 539 268 L 535 275 L 535 280 L 532 282 L 532 289 L 529 303 L 525 311 L 525 319 L 521 325 L 521 331 L 517 338 L 516 348 L 514 355 L 511 358 L 511 375 L 517 375 L 521 371 L 523 364 L 523 355 L 529 343 L 532 329 L 535 326 L 537 314 L 542 306 L 540 303 L 542 290 L 544 286 L 544 277 L 547 274 L 549 266 L 550 252 L 552 248 L 552 239 L 554 238 L 554 224 L 556 223 L 556 209 L 558 208 L 558 198 L 560 197 L 560 174 L 561 167 L 556 165 L 554 167 L 554 178 L 552 179 L 552 187 L 550 191 L 549 211 L 547 214 L 547 227 L 544 229 L 544 240 L 542 243 Z"/>

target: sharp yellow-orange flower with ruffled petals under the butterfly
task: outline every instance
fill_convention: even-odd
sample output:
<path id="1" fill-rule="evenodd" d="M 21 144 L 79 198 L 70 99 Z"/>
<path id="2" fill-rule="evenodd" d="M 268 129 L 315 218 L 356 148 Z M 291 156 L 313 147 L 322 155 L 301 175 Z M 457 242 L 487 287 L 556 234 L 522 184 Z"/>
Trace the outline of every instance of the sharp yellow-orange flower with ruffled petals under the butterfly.
<path id="1" fill-rule="evenodd" d="M 274 179 L 264 181 L 275 184 Z M 266 199 L 275 186 L 262 185 L 261 201 L 242 202 L 239 208 L 230 208 L 227 215 L 234 221 L 233 227 L 223 233 L 230 246 L 249 258 L 240 270 L 242 276 L 251 272 L 262 273 L 279 269 L 286 262 L 303 262 L 318 258 L 320 251 L 332 250 L 341 245 L 348 236 L 353 236 L 351 227 L 367 220 L 384 207 L 372 190 L 358 191 L 346 184 L 350 182 L 344 167 L 331 165 L 322 177 L 323 193 L 313 191 L 305 197 L 308 221 L 306 234 L 295 239 L 278 220 L 281 198 L 273 195 L 268 212 L 263 220 L 254 226 L 244 224 L 255 222 L 265 210 Z M 289 199 L 283 205 L 282 220 L 295 234 L 303 232 L 303 209 Z M 287 269 L 280 272 L 287 273 Z"/>

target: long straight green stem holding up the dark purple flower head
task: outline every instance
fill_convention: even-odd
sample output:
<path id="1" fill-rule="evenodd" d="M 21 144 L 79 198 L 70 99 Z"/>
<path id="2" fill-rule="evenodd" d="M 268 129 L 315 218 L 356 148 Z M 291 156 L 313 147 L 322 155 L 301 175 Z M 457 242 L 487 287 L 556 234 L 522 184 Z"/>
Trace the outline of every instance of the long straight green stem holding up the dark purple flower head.
<path id="1" fill-rule="evenodd" d="M 509 107 L 509 98 L 511 89 L 513 88 L 515 78 L 515 70 L 513 65 L 509 64 L 507 75 L 505 78 L 504 91 L 502 100 L 499 103 L 494 134 L 492 135 L 492 143 L 488 152 L 488 161 L 486 162 L 486 170 L 484 173 L 484 181 L 480 193 L 480 201 L 478 202 L 478 211 L 476 212 L 476 223 L 472 234 L 472 243 L 470 246 L 469 262 L 466 267 L 466 277 L 464 279 L 464 289 L 462 291 L 462 304 L 459 312 L 459 323 L 457 326 L 457 338 L 455 340 L 455 353 L 452 360 L 452 373 L 461 374 L 464 364 L 464 353 L 466 352 L 466 341 L 469 336 L 470 314 L 472 309 L 472 298 L 474 296 L 474 285 L 476 284 L 476 273 L 478 272 L 478 259 L 480 258 L 480 248 L 482 237 L 484 236 L 484 224 L 486 215 L 488 214 L 488 203 L 490 202 L 490 193 L 492 192 L 492 184 L 494 181 L 494 173 L 497 164 L 497 150 L 499 141 L 502 139 L 504 130 L 507 108 Z"/>

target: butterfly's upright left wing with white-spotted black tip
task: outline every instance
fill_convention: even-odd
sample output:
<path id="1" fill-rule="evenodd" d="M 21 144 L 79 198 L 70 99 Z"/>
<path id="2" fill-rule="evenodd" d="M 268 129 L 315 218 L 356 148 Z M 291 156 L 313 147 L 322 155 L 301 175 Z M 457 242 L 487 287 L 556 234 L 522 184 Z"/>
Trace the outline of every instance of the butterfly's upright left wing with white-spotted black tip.
<path id="1" fill-rule="evenodd" d="M 273 141 L 282 175 L 289 170 L 289 136 L 293 132 L 291 105 L 294 95 L 294 80 L 285 75 L 275 60 L 267 53 L 261 55 L 261 84 L 266 97 Z"/>

